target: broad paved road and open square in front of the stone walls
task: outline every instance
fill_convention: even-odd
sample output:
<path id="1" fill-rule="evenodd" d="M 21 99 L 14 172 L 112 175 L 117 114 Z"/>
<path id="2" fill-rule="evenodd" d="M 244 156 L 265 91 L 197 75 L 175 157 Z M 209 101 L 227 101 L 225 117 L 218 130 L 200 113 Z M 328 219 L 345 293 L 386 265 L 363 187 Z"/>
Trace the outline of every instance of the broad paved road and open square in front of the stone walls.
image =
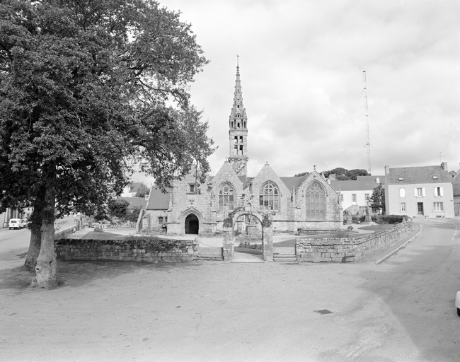
<path id="1" fill-rule="evenodd" d="M 379 265 L 61 262 L 53 291 L 5 269 L 0 361 L 459 361 L 460 222 L 417 222 Z"/>

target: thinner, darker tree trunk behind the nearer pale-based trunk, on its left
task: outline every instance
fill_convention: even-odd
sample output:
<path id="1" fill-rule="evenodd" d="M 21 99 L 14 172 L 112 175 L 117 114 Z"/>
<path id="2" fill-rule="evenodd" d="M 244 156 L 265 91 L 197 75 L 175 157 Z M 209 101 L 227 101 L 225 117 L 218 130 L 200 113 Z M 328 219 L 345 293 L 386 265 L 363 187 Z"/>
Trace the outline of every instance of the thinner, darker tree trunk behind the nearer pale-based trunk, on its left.
<path id="1" fill-rule="evenodd" d="M 37 199 L 33 204 L 33 211 L 30 215 L 30 245 L 27 257 L 25 257 L 24 267 L 30 271 L 35 271 L 37 265 L 37 257 L 40 253 L 40 246 L 42 245 L 42 213 L 45 206 L 45 187 L 41 187 Z"/>

